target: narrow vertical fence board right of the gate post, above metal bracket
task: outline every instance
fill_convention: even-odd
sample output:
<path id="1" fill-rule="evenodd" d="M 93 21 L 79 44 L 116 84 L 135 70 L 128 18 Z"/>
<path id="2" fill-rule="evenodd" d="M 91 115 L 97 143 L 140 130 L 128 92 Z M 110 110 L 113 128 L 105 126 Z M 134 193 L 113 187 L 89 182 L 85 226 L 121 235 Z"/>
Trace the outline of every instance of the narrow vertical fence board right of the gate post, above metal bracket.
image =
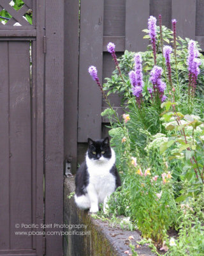
<path id="1" fill-rule="evenodd" d="M 64 2 L 64 157 L 77 171 L 79 1 Z"/>

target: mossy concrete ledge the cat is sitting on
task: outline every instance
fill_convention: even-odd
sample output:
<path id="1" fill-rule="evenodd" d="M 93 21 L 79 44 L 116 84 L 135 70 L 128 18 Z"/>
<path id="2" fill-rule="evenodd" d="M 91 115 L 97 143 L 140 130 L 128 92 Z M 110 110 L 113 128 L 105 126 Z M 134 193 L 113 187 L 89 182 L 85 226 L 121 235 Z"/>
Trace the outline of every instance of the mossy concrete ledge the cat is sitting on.
<path id="1" fill-rule="evenodd" d="M 128 237 L 135 237 L 133 244 L 140 241 L 140 234 L 136 231 L 122 230 L 119 227 L 110 227 L 108 223 L 94 220 L 87 211 L 79 210 L 73 197 L 68 198 L 69 193 L 75 191 L 74 178 L 64 180 L 64 224 L 69 225 L 64 231 L 69 231 L 64 236 L 64 256 L 124 256 L 128 246 Z M 82 225 L 83 224 L 83 225 Z M 71 225 L 81 225 L 77 228 Z M 86 226 L 87 225 L 87 226 Z M 76 232 L 84 232 L 81 235 Z M 147 246 L 136 249 L 138 255 L 153 256 Z"/>

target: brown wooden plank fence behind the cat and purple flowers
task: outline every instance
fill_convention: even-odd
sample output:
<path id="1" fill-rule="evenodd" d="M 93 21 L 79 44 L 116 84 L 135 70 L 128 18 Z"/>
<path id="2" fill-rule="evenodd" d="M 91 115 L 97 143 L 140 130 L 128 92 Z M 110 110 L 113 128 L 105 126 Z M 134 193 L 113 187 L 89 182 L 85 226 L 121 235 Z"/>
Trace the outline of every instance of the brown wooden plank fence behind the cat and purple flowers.
<path id="1" fill-rule="evenodd" d="M 98 68 L 101 81 L 110 77 L 114 68 L 112 56 L 106 45 L 116 45 L 117 56 L 125 49 L 144 51 L 147 40 L 142 29 L 147 28 L 150 15 L 171 28 L 171 19 L 177 19 L 177 34 L 198 40 L 204 50 L 204 1 L 203 0 L 82 0 L 80 20 L 78 1 L 67 1 L 65 9 L 65 156 L 72 162 L 73 172 L 82 161 L 87 138 L 106 136 L 105 108 L 101 92 L 87 70 L 90 65 Z M 71 9 L 70 9 L 71 7 Z M 80 32 L 79 32 L 80 29 Z M 68 36 L 72 40 L 68 40 Z M 66 50 L 67 49 L 67 50 Z M 71 63 L 69 62 L 71 58 Z M 78 68 L 79 67 L 79 68 Z M 72 101 L 68 101 L 70 97 Z M 110 96 L 115 107 L 120 106 L 118 95 Z"/>

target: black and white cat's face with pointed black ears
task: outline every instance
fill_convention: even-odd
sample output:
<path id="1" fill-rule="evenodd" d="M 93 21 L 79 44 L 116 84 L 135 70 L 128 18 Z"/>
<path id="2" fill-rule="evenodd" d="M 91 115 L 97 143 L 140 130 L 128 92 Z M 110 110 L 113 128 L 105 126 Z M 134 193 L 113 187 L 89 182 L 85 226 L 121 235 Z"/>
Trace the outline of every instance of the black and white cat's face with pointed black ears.
<path id="1" fill-rule="evenodd" d="M 89 148 L 87 156 L 93 161 L 103 162 L 108 161 L 112 157 L 110 142 L 108 137 L 104 140 L 88 139 Z"/>

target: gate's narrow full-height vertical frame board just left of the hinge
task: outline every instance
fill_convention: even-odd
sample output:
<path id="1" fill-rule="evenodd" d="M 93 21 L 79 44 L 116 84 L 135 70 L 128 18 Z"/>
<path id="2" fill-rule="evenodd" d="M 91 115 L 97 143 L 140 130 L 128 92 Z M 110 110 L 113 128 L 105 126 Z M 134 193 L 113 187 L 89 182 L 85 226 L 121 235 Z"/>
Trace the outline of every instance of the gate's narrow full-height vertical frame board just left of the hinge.
<path id="1" fill-rule="evenodd" d="M 43 212 L 43 169 L 44 169 L 44 54 L 43 35 L 45 35 L 45 1 L 36 1 L 36 42 L 33 42 L 33 86 L 35 87 L 35 105 L 33 118 L 36 118 L 36 146 L 33 148 L 36 154 L 36 224 L 44 221 Z M 43 231 L 38 228 L 38 231 Z M 36 236 L 36 254 L 43 256 L 43 236 Z"/>

